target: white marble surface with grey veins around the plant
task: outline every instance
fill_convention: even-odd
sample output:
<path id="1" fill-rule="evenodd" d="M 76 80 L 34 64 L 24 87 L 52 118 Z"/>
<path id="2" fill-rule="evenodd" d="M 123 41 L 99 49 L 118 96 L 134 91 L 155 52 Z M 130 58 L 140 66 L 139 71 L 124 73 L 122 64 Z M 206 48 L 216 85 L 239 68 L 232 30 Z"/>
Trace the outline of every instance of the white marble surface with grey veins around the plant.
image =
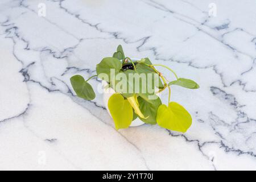
<path id="1" fill-rule="evenodd" d="M 0 170 L 255 170 L 255 9 L 255 0 L 1 0 Z M 76 97 L 69 78 L 93 75 L 118 44 L 200 84 L 172 88 L 192 115 L 187 133 L 116 131 L 102 93 Z"/>

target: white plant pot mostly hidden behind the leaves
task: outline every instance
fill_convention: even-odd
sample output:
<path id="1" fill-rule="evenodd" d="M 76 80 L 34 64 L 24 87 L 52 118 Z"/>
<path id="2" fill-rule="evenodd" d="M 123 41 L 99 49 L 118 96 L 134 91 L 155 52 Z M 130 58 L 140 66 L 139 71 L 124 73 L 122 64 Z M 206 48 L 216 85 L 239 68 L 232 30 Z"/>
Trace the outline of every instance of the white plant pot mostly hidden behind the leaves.
<path id="1" fill-rule="evenodd" d="M 115 93 L 115 90 L 112 88 L 107 88 L 107 86 L 108 86 L 108 83 L 106 81 L 102 80 L 104 105 L 105 105 L 106 110 L 108 111 L 110 117 L 112 118 L 110 111 L 109 111 L 108 102 L 109 102 L 109 98 Z M 143 124 L 144 124 L 144 122 L 141 121 L 141 119 L 136 118 L 136 119 L 134 119 L 133 122 L 131 122 L 130 127 L 141 126 Z"/>

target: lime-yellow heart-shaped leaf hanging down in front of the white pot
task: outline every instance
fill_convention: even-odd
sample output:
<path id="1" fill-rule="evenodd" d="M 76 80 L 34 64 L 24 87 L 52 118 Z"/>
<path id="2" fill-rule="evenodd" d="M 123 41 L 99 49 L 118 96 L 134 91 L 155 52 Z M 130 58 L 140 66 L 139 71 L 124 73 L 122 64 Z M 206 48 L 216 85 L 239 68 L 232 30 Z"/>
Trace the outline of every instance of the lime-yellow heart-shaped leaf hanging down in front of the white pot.
<path id="1" fill-rule="evenodd" d="M 109 98 L 108 107 L 115 123 L 115 129 L 126 129 L 133 121 L 133 107 L 119 93 Z"/>

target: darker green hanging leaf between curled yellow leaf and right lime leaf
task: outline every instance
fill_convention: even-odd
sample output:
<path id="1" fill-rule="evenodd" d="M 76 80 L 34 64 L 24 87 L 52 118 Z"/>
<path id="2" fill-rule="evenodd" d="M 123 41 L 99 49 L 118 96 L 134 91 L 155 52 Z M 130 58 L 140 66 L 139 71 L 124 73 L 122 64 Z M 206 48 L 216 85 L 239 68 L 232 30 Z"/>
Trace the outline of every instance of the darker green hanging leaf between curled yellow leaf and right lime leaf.
<path id="1" fill-rule="evenodd" d="M 148 118 L 140 118 L 144 123 L 148 123 L 151 125 L 156 124 L 156 113 L 158 111 L 158 107 L 162 104 L 159 97 L 155 100 L 144 100 L 142 97 L 138 97 L 139 109 L 143 115 L 147 115 Z"/>

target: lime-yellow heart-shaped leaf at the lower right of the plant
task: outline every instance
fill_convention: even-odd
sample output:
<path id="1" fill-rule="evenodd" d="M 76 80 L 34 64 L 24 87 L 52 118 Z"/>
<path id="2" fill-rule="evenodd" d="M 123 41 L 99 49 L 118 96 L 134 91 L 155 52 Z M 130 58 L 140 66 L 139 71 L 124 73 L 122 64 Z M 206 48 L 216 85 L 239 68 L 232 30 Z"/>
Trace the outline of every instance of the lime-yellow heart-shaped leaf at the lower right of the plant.
<path id="1" fill-rule="evenodd" d="M 164 104 L 158 107 L 156 122 L 165 129 L 185 133 L 192 124 L 192 118 L 183 106 L 170 102 L 168 107 Z"/>

